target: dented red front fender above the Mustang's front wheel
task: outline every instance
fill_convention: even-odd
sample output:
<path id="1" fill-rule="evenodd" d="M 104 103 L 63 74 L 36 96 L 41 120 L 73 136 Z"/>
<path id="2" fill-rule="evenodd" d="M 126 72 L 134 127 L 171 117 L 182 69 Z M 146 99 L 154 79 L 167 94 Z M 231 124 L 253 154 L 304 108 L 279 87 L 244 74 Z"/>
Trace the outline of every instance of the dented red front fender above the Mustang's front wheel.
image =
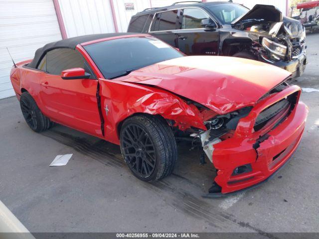
<path id="1" fill-rule="evenodd" d="M 196 127 L 206 130 L 199 110 L 179 97 L 152 87 L 99 79 L 105 139 L 119 144 L 119 126 L 135 114 L 160 115 L 174 120 L 180 130 Z M 132 94 L 134 92 L 134 94 Z"/>

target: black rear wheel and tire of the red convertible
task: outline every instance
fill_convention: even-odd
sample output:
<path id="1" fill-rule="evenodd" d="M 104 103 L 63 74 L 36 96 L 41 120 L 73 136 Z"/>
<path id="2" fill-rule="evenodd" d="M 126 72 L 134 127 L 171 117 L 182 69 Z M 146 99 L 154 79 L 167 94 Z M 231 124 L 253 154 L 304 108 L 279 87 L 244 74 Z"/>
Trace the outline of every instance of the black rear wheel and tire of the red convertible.
<path id="1" fill-rule="evenodd" d="M 20 107 L 26 123 L 33 131 L 41 132 L 53 126 L 53 122 L 42 114 L 28 92 L 22 93 Z"/>

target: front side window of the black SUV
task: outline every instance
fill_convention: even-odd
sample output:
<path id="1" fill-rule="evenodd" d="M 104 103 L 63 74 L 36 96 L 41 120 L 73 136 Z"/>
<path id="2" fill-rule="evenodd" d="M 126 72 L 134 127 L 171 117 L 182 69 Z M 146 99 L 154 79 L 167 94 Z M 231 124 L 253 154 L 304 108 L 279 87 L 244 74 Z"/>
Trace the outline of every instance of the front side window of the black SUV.
<path id="1" fill-rule="evenodd" d="M 210 18 L 209 15 L 199 8 L 183 9 L 181 29 L 203 28 L 201 20 Z"/>

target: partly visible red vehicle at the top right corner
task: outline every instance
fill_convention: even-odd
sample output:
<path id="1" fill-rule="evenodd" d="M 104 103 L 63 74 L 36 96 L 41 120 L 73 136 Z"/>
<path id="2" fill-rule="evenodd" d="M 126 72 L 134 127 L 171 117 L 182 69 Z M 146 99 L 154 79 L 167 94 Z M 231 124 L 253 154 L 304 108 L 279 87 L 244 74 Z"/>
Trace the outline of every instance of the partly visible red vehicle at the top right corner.
<path id="1" fill-rule="evenodd" d="M 299 9 L 299 14 L 293 18 L 299 20 L 306 30 L 314 32 L 314 30 L 319 29 L 319 1 L 299 3 L 296 5 L 296 9 Z"/>

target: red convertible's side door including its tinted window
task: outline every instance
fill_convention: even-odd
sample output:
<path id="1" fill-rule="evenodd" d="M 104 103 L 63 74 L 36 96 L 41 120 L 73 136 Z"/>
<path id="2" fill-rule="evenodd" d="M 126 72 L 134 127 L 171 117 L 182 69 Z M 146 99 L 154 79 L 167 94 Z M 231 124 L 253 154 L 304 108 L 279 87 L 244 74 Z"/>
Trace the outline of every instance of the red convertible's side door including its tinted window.
<path id="1" fill-rule="evenodd" d="M 76 67 L 84 68 L 92 79 L 61 78 L 63 70 Z M 82 55 L 73 49 L 57 48 L 46 53 L 38 69 L 46 72 L 40 80 L 43 113 L 58 123 L 102 136 L 96 98 L 98 81 Z"/>

